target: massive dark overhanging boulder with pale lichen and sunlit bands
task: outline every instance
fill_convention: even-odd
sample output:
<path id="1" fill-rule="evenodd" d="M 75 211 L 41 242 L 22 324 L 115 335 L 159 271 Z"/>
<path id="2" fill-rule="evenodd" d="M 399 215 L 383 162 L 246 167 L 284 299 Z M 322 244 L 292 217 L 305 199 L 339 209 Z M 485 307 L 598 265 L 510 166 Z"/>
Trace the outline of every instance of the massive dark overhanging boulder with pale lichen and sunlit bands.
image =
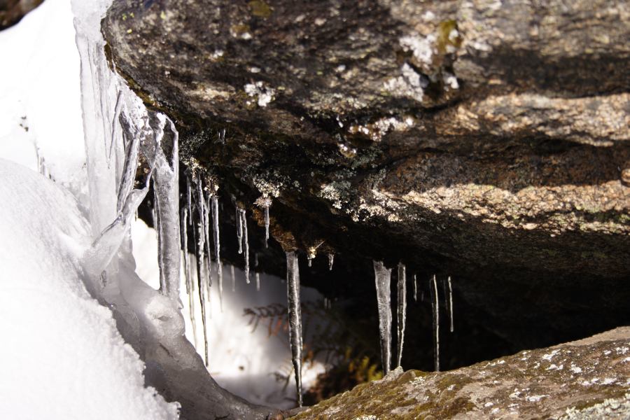
<path id="1" fill-rule="evenodd" d="M 118 0 L 102 29 L 286 250 L 451 275 L 514 347 L 630 322 L 627 2 Z"/>

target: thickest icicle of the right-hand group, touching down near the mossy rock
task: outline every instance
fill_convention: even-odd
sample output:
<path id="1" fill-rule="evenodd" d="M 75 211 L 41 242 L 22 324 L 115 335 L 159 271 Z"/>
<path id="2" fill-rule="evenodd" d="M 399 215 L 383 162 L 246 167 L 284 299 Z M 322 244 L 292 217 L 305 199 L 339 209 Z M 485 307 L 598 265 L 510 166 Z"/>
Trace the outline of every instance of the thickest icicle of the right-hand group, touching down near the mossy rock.
<path id="1" fill-rule="evenodd" d="M 381 363 L 387 374 L 391 366 L 391 269 L 381 261 L 374 261 L 374 281 L 377 289 L 377 307 L 379 310 L 379 334 L 381 339 Z"/>

